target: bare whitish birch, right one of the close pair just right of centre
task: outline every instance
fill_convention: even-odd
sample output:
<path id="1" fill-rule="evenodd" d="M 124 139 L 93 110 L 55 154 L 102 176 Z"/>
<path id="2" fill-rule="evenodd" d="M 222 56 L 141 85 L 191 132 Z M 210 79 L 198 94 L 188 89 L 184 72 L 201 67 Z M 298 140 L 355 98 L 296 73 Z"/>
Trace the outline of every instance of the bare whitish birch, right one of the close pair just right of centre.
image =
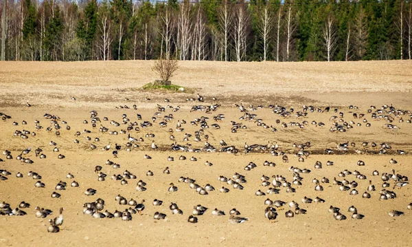
<path id="1" fill-rule="evenodd" d="M 247 24 L 249 16 L 244 5 L 238 4 L 233 20 L 233 41 L 235 43 L 236 61 L 242 61 L 246 56 Z"/>

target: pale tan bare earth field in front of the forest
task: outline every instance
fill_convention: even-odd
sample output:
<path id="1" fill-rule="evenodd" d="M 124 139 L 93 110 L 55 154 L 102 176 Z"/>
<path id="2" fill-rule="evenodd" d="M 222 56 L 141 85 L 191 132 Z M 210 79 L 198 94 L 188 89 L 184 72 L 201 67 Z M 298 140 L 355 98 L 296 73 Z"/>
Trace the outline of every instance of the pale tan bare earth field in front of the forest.
<path id="1" fill-rule="evenodd" d="M 178 74 L 172 83 L 191 87 L 201 94 L 205 101 L 187 101 L 197 99 L 197 94 L 144 92 L 141 87 L 157 76 L 150 69 L 152 61 L 108 61 L 82 63 L 30 63 L 0 62 L 0 170 L 9 171 L 0 180 L 0 202 L 10 204 L 14 209 L 24 201 L 29 208 L 21 208 L 27 215 L 0 215 L 0 246 L 408 246 L 412 239 L 412 210 L 407 208 L 412 202 L 412 187 L 407 184 L 398 189 L 393 186 L 398 182 L 412 178 L 412 63 L 411 61 L 371 61 L 349 63 L 219 63 L 219 62 L 181 62 Z M 217 100 L 212 100 L 216 96 Z M 76 100 L 71 98 L 75 97 Z M 126 100 L 127 98 L 127 100 Z M 151 100 L 146 100 L 150 98 Z M 165 102 L 168 98 L 170 102 Z M 27 107 L 30 103 L 31 107 Z M 235 104 L 244 106 L 240 111 Z M 136 105 L 137 109 L 133 109 Z M 216 111 L 191 111 L 194 105 L 220 105 Z M 284 107 L 282 114 L 274 113 L 277 106 Z M 306 114 L 304 113 L 304 105 Z M 350 107 L 350 105 L 354 107 Z M 376 106 L 371 108 L 371 105 Z M 385 107 L 382 107 L 386 105 Z M 124 108 L 124 106 L 130 109 Z M 158 107 L 165 111 L 159 112 Z M 258 107 L 262 106 L 262 107 Z M 391 107 L 392 106 L 392 107 Z M 330 107 L 330 111 L 325 111 Z M 293 112 L 290 111 L 293 108 Z M 310 109 L 314 109 L 313 112 Z M 319 109 L 319 111 L 318 111 Z M 336 112 L 334 109 L 337 109 Z M 92 126 L 90 111 L 97 111 L 100 121 Z M 368 112 L 370 110 L 370 112 Z M 298 112 L 300 111 L 301 114 Z M 286 116 L 286 112 L 291 112 Z M 56 122 L 61 127 L 60 136 L 45 113 L 58 116 Z M 343 116 L 340 116 L 342 113 Z M 122 116 L 126 114 L 126 118 Z M 141 120 L 137 118 L 141 115 Z M 165 121 L 164 116 L 173 118 Z M 223 120 L 214 117 L 223 114 Z M 255 115 L 253 115 L 255 114 Z M 356 117 L 354 116 L 356 114 Z M 365 114 L 365 116 L 359 116 Z M 306 116 L 305 116 L 306 115 Z M 240 119 L 247 116 L 247 119 Z M 108 120 L 104 120 L 107 117 Z M 155 117 L 153 122 L 152 117 Z M 205 122 L 196 118 L 207 117 Z M 389 119 L 390 121 L 388 121 Z M 43 127 L 36 128 L 35 121 Z M 87 120 L 87 123 L 84 123 Z M 178 131 L 176 125 L 185 120 Z M 279 120 L 279 123 L 277 123 Z M 23 125 L 23 121 L 27 125 Z M 65 121 L 65 122 L 64 122 Z M 148 121 L 151 127 L 144 128 L 141 123 Z M 239 124 L 233 133 L 233 122 Z M 305 122 L 306 121 L 306 122 Z M 315 121 L 312 123 L 312 121 Z M 16 124 L 13 124 L 16 122 Z M 137 122 L 130 131 L 130 124 Z M 167 127 L 161 127 L 166 122 Z M 324 123 L 324 126 L 320 125 Z M 114 125 L 113 125 L 114 123 Z M 115 126 L 119 123 L 119 126 Z M 368 127 L 367 124 L 370 124 Z M 214 129 L 213 125 L 220 129 Z M 286 127 L 282 127 L 282 125 Z M 202 126 L 203 125 L 203 128 Z M 330 131 L 338 125 L 342 131 Z M 392 125 L 389 128 L 388 125 Z M 67 126 L 70 127 L 67 130 Z M 242 127 L 245 128 L 242 128 Z M 264 127 L 266 126 L 266 127 Z M 395 127 L 393 127 L 395 126 Z M 100 129 L 108 129 L 102 133 Z M 135 127 L 139 127 L 138 130 Z M 272 128 L 271 128 L 272 127 Z M 274 131 L 274 129 L 276 131 Z M 170 131 L 175 140 L 170 139 Z M 196 131 L 204 133 L 196 140 Z M 14 135 L 16 131 L 29 131 L 27 138 Z M 80 134 L 76 135 L 79 131 Z M 91 131 L 87 133 L 87 131 Z M 117 131 L 117 135 L 109 133 Z M 36 133 L 36 136 L 32 136 Z M 143 140 L 130 141 L 133 138 Z M 148 136 L 149 133 L 155 137 Z M 190 134 L 192 136 L 187 136 Z M 209 136 L 208 140 L 205 136 Z M 88 140 L 87 138 L 90 138 Z M 100 141 L 96 141 L 99 138 Z M 78 140 L 75 143 L 74 140 Z M 154 140 L 158 149 L 150 145 Z M 227 146 L 233 146 L 238 153 L 221 151 L 220 140 Z M 50 146 L 49 142 L 56 142 Z M 139 147 L 130 147 L 130 142 Z M 206 151 L 205 142 L 209 149 Z M 249 147 L 245 147 L 245 142 Z M 310 147 L 296 147 L 297 144 L 310 142 Z M 339 144 L 348 143 L 347 147 Z M 351 145 L 351 142 L 354 144 Z M 363 142 L 367 142 L 366 147 Z M 372 144 L 376 143 L 376 147 Z M 387 147 L 382 148 L 382 144 Z M 110 144 L 110 149 L 104 147 Z M 117 158 L 113 157 L 115 144 L 122 146 Z M 252 149 L 253 144 L 258 144 Z M 91 148 L 95 145 L 95 149 Z M 174 147 L 183 150 L 174 151 Z M 385 145 L 383 145 L 385 146 Z M 58 151 L 53 151 L 58 147 Z M 27 154 L 23 150 L 31 148 Z M 42 149 L 46 158 L 36 157 L 35 149 Z M 260 150 L 258 150 L 260 149 Z M 327 154 L 325 149 L 330 149 Z M 338 149 L 347 149 L 345 151 Z M 12 159 L 6 158 L 3 151 L 11 152 Z M 304 162 L 299 162 L 299 152 Z M 65 155 L 59 159 L 58 155 Z M 152 159 L 145 159 L 144 155 Z M 16 158 L 21 155 L 30 159 L 32 164 Z M 179 160 L 184 155 L 186 160 Z M 288 162 L 282 162 L 282 155 L 288 156 Z M 306 157 L 307 156 L 307 157 Z M 174 157 L 174 161 L 168 161 Z M 197 161 L 191 161 L 190 158 Z M 390 160 L 396 160 L 390 162 Z M 119 168 L 107 165 L 106 160 L 119 164 Z M 365 166 L 358 166 L 358 161 Z M 205 162 L 212 166 L 206 166 Z M 275 166 L 264 166 L 264 162 L 274 162 Z M 315 163 L 322 164 L 315 169 Z M 327 166 L 328 161 L 334 162 Z M 256 167 L 245 170 L 249 162 Z M 95 167 L 101 166 L 106 174 L 105 181 L 98 181 Z M 168 167 L 170 174 L 163 173 Z M 310 169 L 310 173 L 294 174 L 290 167 Z M 392 171 L 395 170 L 393 176 Z M 112 180 L 112 175 L 123 175 L 124 171 L 136 175 L 136 179 L 124 178 Z M 152 171 L 154 175 L 146 173 Z M 365 175 L 360 179 L 350 174 L 340 177 L 344 170 L 358 171 Z M 36 188 L 34 180 L 27 173 L 34 171 L 41 175 L 44 188 Z M 297 171 L 297 170 L 296 170 Z M 372 175 L 378 171 L 379 175 Z M 16 178 L 16 173 L 23 178 Z M 67 178 L 71 173 L 74 178 Z M 233 178 L 235 173 L 244 175 L 244 188 L 234 189 L 233 184 L 221 182 L 219 176 Z M 388 187 L 382 188 L 382 174 L 389 173 Z M 262 175 L 269 177 L 269 186 L 263 186 Z M 278 193 L 267 193 L 273 188 L 273 175 L 282 175 L 290 182 L 291 188 L 280 187 Z M 297 178 L 302 178 L 301 185 Z M 1 178 L 0 176 L 0 178 Z M 216 189 L 208 195 L 200 195 L 189 183 L 179 182 L 179 178 L 192 178 L 194 184 L 205 187 L 211 184 Z M 329 183 L 320 182 L 323 191 L 316 191 L 312 180 L 328 178 Z M 334 184 L 356 182 L 348 191 L 341 191 Z M 65 190 L 56 191 L 59 181 L 67 182 Z M 76 180 L 79 187 L 70 184 Z M 146 182 L 146 191 L 137 191 L 139 180 Z M 376 188 L 368 191 L 369 180 Z M 239 182 L 239 181 L 238 181 Z M 169 192 L 169 184 L 174 183 L 178 190 Z M 236 182 L 235 182 L 236 184 Z M 229 193 L 220 193 L 225 186 Z M 348 184 L 347 186 L 350 186 Z M 96 190 L 95 195 L 85 195 L 89 188 Z M 355 189 L 358 195 L 350 195 Z M 386 189 L 387 191 L 382 191 Z M 256 191 L 266 195 L 255 195 Z M 56 191 L 60 198 L 51 197 Z M 368 191 L 369 199 L 363 198 Z M 388 192 L 389 191 L 389 192 Z M 389 195 L 393 191 L 396 197 L 380 200 L 381 194 Z M 122 218 L 94 218 L 84 215 L 83 204 L 104 200 L 104 211 L 114 213 L 126 211 L 130 206 L 120 205 L 115 200 L 122 195 L 126 200 L 145 200 L 141 215 L 131 214 L 131 221 Z M 324 203 L 306 204 L 304 197 L 321 197 Z M 153 200 L 162 200 L 161 206 L 154 206 Z M 269 222 L 264 212 L 266 199 L 282 200 L 287 204 L 277 209 L 277 219 Z M 306 214 L 286 217 L 289 202 L 295 201 Z M 183 215 L 172 214 L 170 203 L 176 203 Z M 201 204 L 208 209 L 198 215 L 198 223 L 187 222 L 193 214 L 193 207 Z M 328 209 L 330 206 L 341 208 L 341 214 L 347 219 L 336 220 Z M 363 219 L 352 219 L 348 212 L 350 206 L 364 215 Z M 36 206 L 51 209 L 52 215 L 36 217 Z M 47 233 L 49 219 L 59 215 L 63 207 L 64 222 L 59 233 Z M 134 208 L 134 206 L 131 206 Z M 225 211 L 225 215 L 212 215 L 214 208 Z M 229 211 L 236 208 L 240 217 L 248 220 L 241 224 L 229 222 Z M 412 207 L 411 207 L 412 208 Z M 389 212 L 404 212 L 400 217 L 390 217 Z M 4 208 L 0 208 L 0 213 Z M 165 219 L 153 218 L 155 212 L 165 213 Z"/>

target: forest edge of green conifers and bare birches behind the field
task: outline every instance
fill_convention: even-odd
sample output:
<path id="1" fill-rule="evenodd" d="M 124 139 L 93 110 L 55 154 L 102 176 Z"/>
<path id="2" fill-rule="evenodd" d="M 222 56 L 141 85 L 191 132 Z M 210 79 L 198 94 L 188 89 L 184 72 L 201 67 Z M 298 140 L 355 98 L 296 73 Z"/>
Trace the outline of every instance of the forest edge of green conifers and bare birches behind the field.
<path id="1" fill-rule="evenodd" d="M 0 0 L 1 60 L 411 59 L 411 0 Z"/>

